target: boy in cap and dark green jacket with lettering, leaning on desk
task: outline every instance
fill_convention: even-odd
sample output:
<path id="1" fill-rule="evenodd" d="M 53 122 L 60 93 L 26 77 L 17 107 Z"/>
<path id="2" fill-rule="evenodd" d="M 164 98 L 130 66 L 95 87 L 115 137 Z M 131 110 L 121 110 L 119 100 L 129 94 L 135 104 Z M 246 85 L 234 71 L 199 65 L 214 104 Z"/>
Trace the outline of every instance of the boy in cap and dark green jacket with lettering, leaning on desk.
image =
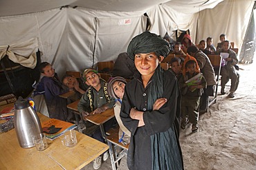
<path id="1" fill-rule="evenodd" d="M 83 78 L 87 85 L 90 87 L 86 90 L 85 94 L 80 99 L 77 109 L 82 114 L 82 116 L 89 116 L 91 114 L 101 114 L 103 111 L 110 109 L 115 104 L 115 100 L 109 96 L 107 93 L 107 82 L 100 78 L 98 72 L 93 68 L 84 70 Z M 112 118 L 111 120 L 104 123 L 104 129 L 107 131 L 113 125 L 116 125 L 116 119 Z M 91 136 L 101 142 L 104 142 L 104 138 L 100 133 L 100 130 L 97 130 Z M 103 160 L 107 160 L 109 157 L 108 152 L 103 153 Z M 102 162 L 102 156 L 99 156 L 93 160 L 93 168 L 99 169 Z"/>

